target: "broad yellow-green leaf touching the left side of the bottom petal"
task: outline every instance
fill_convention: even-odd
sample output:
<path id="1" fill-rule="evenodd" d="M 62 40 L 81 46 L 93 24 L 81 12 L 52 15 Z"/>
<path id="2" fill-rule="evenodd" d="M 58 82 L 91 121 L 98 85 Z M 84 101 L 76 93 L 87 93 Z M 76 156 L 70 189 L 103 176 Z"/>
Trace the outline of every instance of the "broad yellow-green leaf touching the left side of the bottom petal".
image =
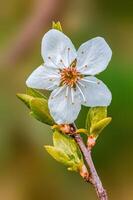
<path id="1" fill-rule="evenodd" d="M 31 115 L 36 119 L 50 126 L 55 124 L 49 113 L 48 102 L 46 99 L 33 98 L 30 102 L 30 106 L 32 111 Z"/>

